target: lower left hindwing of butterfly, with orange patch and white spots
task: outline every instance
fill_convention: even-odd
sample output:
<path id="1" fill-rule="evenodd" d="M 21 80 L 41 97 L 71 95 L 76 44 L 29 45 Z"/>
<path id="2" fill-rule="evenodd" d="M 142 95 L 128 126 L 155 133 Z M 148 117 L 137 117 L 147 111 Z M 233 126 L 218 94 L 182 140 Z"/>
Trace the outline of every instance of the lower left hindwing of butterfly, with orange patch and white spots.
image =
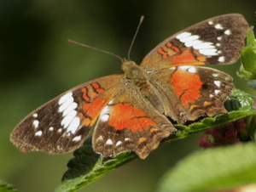
<path id="1" fill-rule="evenodd" d="M 125 88 L 103 108 L 92 144 L 94 151 L 104 156 L 133 150 L 145 159 L 162 138 L 175 131 L 171 121 L 147 103 L 136 88 Z"/>

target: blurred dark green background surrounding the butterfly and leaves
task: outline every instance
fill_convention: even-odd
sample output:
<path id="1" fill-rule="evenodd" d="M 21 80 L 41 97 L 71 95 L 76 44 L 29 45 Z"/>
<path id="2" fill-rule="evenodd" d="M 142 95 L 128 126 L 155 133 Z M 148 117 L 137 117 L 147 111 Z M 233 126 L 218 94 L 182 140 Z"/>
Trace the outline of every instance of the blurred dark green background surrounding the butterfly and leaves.
<path id="1" fill-rule="evenodd" d="M 23 154 L 9 133 L 32 110 L 83 82 L 122 73 L 119 59 L 67 42 L 73 39 L 127 57 L 141 15 L 145 16 L 131 59 L 166 37 L 219 14 L 244 14 L 255 25 L 250 0 L 1 0 L 0 6 L 0 179 L 20 191 L 53 191 L 67 170 L 67 155 Z M 254 94 L 236 78 L 240 61 L 218 66 L 235 77 L 237 88 Z M 201 134 L 166 144 L 144 161 L 119 167 L 81 191 L 154 191 L 165 172 L 198 147 Z M 184 181 L 186 182 L 186 181 Z"/>

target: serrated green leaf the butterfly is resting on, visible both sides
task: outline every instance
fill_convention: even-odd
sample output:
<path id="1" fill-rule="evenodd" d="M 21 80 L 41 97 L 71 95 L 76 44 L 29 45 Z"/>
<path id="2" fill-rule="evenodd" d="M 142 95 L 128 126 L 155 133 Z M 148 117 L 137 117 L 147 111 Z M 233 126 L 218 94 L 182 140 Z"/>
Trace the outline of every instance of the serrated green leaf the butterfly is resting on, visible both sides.
<path id="1" fill-rule="evenodd" d="M 225 106 L 233 111 L 228 114 L 207 117 L 189 126 L 176 125 L 177 133 L 173 133 L 169 138 L 165 138 L 160 145 L 255 114 L 255 110 L 253 110 L 253 97 L 237 89 L 233 91 L 233 95 L 226 102 Z M 102 158 L 101 155 L 96 155 L 93 152 L 91 141 L 88 139 L 84 146 L 74 152 L 74 158 L 67 165 L 69 169 L 65 172 L 62 184 L 56 191 L 80 189 L 135 158 L 137 158 L 137 155 L 131 151 L 122 152 L 114 158 Z"/>

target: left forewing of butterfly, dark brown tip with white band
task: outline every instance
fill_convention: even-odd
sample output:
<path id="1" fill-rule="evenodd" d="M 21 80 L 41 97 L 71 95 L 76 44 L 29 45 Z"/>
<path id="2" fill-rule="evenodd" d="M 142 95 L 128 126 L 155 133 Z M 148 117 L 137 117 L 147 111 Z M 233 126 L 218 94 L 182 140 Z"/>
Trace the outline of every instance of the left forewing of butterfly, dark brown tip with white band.
<path id="1" fill-rule="evenodd" d="M 113 97 L 122 75 L 86 82 L 50 100 L 20 122 L 11 141 L 21 151 L 66 153 L 79 148 Z"/>

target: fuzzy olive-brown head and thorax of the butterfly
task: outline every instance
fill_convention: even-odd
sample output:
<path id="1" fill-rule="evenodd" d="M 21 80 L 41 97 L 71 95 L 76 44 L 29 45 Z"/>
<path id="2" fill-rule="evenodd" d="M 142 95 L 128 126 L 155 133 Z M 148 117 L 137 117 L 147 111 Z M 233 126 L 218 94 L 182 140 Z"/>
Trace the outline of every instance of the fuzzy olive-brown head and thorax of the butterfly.
<path id="1" fill-rule="evenodd" d="M 143 68 L 131 60 L 125 60 L 123 62 L 122 70 L 125 72 L 126 78 L 130 79 L 137 86 L 142 86 L 148 82 L 147 76 L 145 76 L 146 72 Z"/>

